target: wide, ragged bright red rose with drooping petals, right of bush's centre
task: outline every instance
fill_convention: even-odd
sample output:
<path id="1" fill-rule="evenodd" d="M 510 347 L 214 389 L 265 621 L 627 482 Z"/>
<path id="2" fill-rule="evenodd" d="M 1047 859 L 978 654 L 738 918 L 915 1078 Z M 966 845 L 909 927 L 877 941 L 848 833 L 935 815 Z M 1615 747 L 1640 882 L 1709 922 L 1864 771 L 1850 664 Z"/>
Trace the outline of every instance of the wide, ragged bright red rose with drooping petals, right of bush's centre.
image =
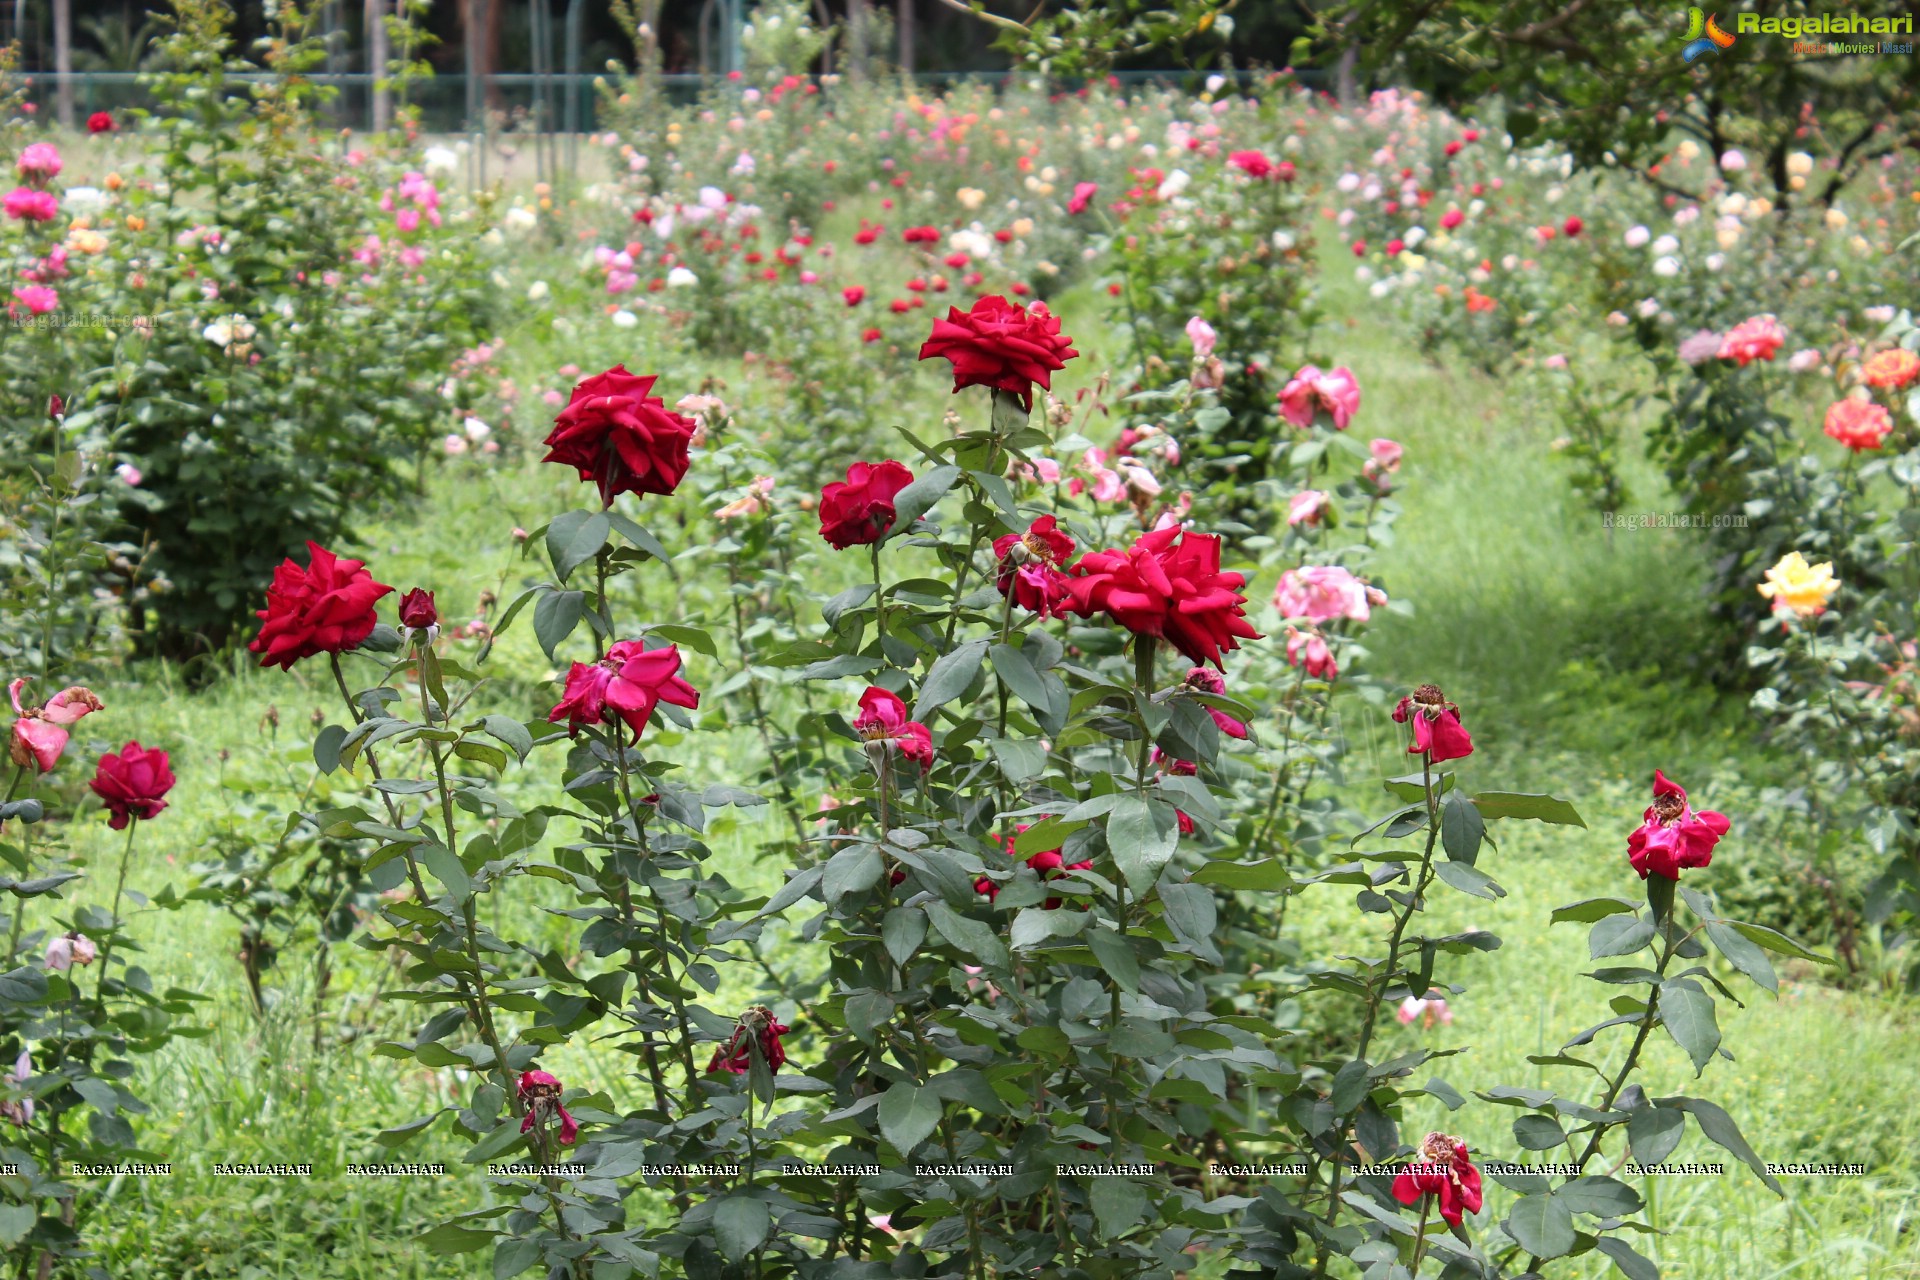
<path id="1" fill-rule="evenodd" d="M 1158 635 L 1212 662 L 1260 639 L 1246 620 L 1242 574 L 1221 572 L 1219 537 L 1181 526 L 1142 533 L 1129 551 L 1089 551 L 1073 566 L 1073 612 L 1104 612 L 1135 635 Z"/>

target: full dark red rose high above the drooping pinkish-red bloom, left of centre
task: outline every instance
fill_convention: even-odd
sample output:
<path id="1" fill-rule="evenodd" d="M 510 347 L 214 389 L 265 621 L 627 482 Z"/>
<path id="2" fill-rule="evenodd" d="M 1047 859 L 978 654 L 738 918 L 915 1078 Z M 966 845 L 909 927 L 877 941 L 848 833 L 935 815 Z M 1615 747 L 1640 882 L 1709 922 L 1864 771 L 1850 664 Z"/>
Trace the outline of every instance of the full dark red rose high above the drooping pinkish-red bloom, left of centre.
<path id="1" fill-rule="evenodd" d="M 578 468 L 607 507 L 618 493 L 672 493 L 687 474 L 693 422 L 649 395 L 655 380 L 614 365 L 576 386 L 553 418 L 541 462 Z"/>

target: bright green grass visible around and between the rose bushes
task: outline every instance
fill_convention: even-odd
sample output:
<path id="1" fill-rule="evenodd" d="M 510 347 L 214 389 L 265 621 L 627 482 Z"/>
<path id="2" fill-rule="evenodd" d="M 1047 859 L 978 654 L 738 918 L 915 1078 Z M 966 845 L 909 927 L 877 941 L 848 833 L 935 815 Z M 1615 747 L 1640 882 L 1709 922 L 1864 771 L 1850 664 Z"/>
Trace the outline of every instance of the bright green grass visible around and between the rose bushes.
<path id="1" fill-rule="evenodd" d="M 561 267 L 555 265 L 555 271 Z M 1396 1050 L 1432 1044 L 1465 1050 L 1440 1073 L 1459 1080 L 1503 1080 L 1555 1086 L 1574 1096 L 1596 1092 L 1576 1073 L 1526 1063 L 1551 1052 L 1574 1031 L 1605 1015 L 1597 984 L 1574 977 L 1588 967 L 1584 929 L 1548 927 L 1551 906 L 1582 896 L 1628 892 L 1624 833 L 1645 802 L 1655 764 L 1686 773 L 1711 796 L 1716 779 L 1764 773 L 1768 762 L 1747 745 L 1738 706 L 1676 691 L 1661 679 L 1665 654 L 1690 643 L 1690 595 L 1701 560 L 1690 533 L 1632 533 L 1607 539 L 1597 516 L 1569 497 L 1548 441 L 1551 422 L 1534 416 L 1511 382 L 1436 368 L 1411 353 L 1392 330 L 1369 317 L 1357 292 L 1329 280 L 1329 313 L 1356 317 L 1325 344 L 1352 365 L 1365 386 L 1367 434 L 1407 445 L 1402 541 L 1388 551 L 1384 580 L 1413 604 L 1407 618 L 1386 616 L 1369 637 L 1373 660 L 1398 683 L 1434 679 L 1465 708 L 1480 750 L 1469 762 L 1475 785 L 1544 789 L 1576 798 L 1590 829 L 1515 823 L 1496 829 L 1501 841 L 1482 867 L 1509 890 L 1482 902 L 1438 890 L 1436 923 L 1478 925 L 1505 938 L 1498 952 L 1448 969 L 1461 990 L 1450 1029 L 1417 1032 L 1392 1027 Z M 1062 299 L 1068 332 L 1089 334 L 1085 349 L 1114 351 L 1112 334 L 1091 317 L 1091 299 Z M 522 386 L 545 386 L 563 361 L 582 365 L 626 355 L 628 338 L 612 330 L 586 342 L 528 326 L 511 334 L 520 353 Z M 580 349 L 586 347 L 586 349 Z M 684 365 L 689 357 L 680 359 Z M 1092 380 L 1089 355 L 1075 378 Z M 597 365 L 593 365 L 597 367 Z M 720 374 L 749 422 L 768 391 L 758 374 L 737 363 L 687 365 L 691 378 Z M 1068 382 L 1073 386 L 1077 382 Z M 943 388 L 922 374 L 908 388 L 897 418 L 937 420 Z M 528 415 L 532 416 L 532 415 Z M 795 430 L 756 422 L 760 430 Z M 1636 476 L 1642 491 L 1657 491 Z M 384 580 L 399 587 L 426 583 L 440 593 L 449 622 L 482 591 L 503 599 L 520 570 L 509 535 L 545 514 L 578 503 L 570 478 L 532 462 L 484 468 L 455 461 L 419 509 L 396 512 L 365 530 Z M 668 539 L 672 541 L 672 539 Z M 824 576 L 851 572 L 828 562 Z M 822 578 L 824 581 L 824 578 Z M 680 620 L 684 604 L 660 591 L 641 612 Z M 538 714 L 536 683 L 551 666 L 520 628 L 499 651 L 505 679 L 492 693 L 518 714 Z M 246 662 L 200 691 L 186 691 L 165 668 L 131 670 L 102 687 L 111 716 L 86 722 L 113 741 L 83 743 L 84 756 L 125 737 L 175 752 L 180 785 L 173 808 L 144 825 L 131 885 L 157 892 L 180 885 L 186 865 L 205 856 L 221 831 L 253 831 L 255 810 L 298 802 L 309 773 L 305 743 L 315 710 L 338 716 L 336 695 L 319 668 L 292 676 L 261 674 Z M 269 718 L 275 708 L 278 725 Z M 707 733 L 712 758 L 689 762 L 708 777 L 741 777 L 753 764 L 743 735 Z M 1386 739 L 1380 739 L 1386 741 Z M 1354 760 L 1398 770 L 1392 748 Z M 67 779 L 73 783 L 73 779 Z M 1354 800 L 1379 808 L 1379 793 L 1354 787 Z M 770 816 L 726 819 L 712 837 L 716 867 L 735 885 L 766 889 L 778 867 L 756 858 L 770 837 Z M 271 821 L 267 823 L 273 825 Z M 1517 827 L 1517 829 L 1513 829 Z M 88 806 L 69 827 L 71 854 L 90 875 L 73 902 L 102 902 L 119 844 Z M 1740 858 L 1736 837 L 1720 854 Z M 1701 877 L 1711 887 L 1711 875 Z M 1308 954 L 1352 952 L 1367 942 L 1356 929 L 1346 890 L 1319 889 L 1288 915 Z M 540 904 L 557 904 L 541 898 Z M 570 925 L 536 902 L 511 908 L 509 927 L 540 931 L 561 944 Z M 61 904 L 61 913 L 69 908 Z M 459 1080 L 445 1071 L 397 1069 L 374 1057 L 371 1042 L 405 1034 L 396 1013 L 376 1000 L 378 963 L 338 946 L 336 983 L 315 1046 L 311 1013 L 311 938 L 296 938 L 269 973 L 275 994 L 257 1015 L 246 998 L 232 956 L 234 925 L 204 906 L 142 912 L 142 963 L 157 984 L 211 996 L 200 1023 L 207 1034 L 180 1040 L 144 1063 L 136 1084 L 152 1103 L 142 1136 L 159 1159 L 173 1159 L 165 1182 L 127 1180 L 100 1201 L 100 1263 L 115 1276 L 449 1276 L 490 1274 L 484 1255 L 434 1259 L 407 1242 L 415 1228 L 488 1196 L 482 1178 L 455 1173 L 444 1180 L 357 1180 L 336 1171 L 346 1161 L 380 1159 L 371 1142 L 382 1126 L 445 1105 Z M 1542 975 L 1549 975 L 1542 979 Z M 751 973 L 730 973 L 714 1002 L 755 992 Z M 1738 981 L 1732 979 L 1732 981 Z M 1670 1044 L 1657 1042 L 1647 1061 L 1653 1094 L 1695 1090 L 1732 1111 L 1749 1142 L 1774 1159 L 1836 1159 L 1868 1165 L 1868 1176 L 1788 1180 L 1776 1199 L 1730 1163 L 1726 1178 L 1649 1180 L 1651 1221 L 1668 1236 L 1647 1238 L 1644 1251 L 1668 1276 L 1686 1280 L 1860 1280 L 1920 1272 L 1912 1188 L 1920 1186 L 1920 1115 L 1912 1080 L 1914 1007 L 1826 986 L 1795 971 L 1780 998 L 1755 992 L 1745 1009 L 1724 1011 L 1726 1044 L 1738 1061 L 1715 1063 L 1701 1084 Z M 804 1044 L 804 1042 L 803 1042 Z M 1620 1044 L 1601 1036 L 1597 1061 L 1617 1061 Z M 1455 1065 L 1459 1063 L 1459 1065 Z M 591 1079 L 616 1105 L 637 1102 L 628 1061 L 609 1046 L 574 1046 L 551 1055 L 557 1073 Z M 1841 1067 L 1843 1065 L 1843 1067 Z M 1478 1151 L 1505 1153 L 1507 1111 L 1469 1103 L 1459 1115 L 1409 1115 L 1405 1130 L 1438 1125 L 1461 1132 Z M 444 1136 L 405 1151 L 407 1159 L 455 1161 L 461 1144 Z M 1726 1159 L 1697 1134 L 1674 1159 Z M 311 1161 L 313 1180 L 234 1180 L 211 1173 L 215 1161 Z M 1492 1192 L 1500 1211 L 1505 1192 Z M 236 1224 L 244 1228 L 236 1230 Z M 1609 1270 L 1594 1255 L 1565 1274 Z"/>

